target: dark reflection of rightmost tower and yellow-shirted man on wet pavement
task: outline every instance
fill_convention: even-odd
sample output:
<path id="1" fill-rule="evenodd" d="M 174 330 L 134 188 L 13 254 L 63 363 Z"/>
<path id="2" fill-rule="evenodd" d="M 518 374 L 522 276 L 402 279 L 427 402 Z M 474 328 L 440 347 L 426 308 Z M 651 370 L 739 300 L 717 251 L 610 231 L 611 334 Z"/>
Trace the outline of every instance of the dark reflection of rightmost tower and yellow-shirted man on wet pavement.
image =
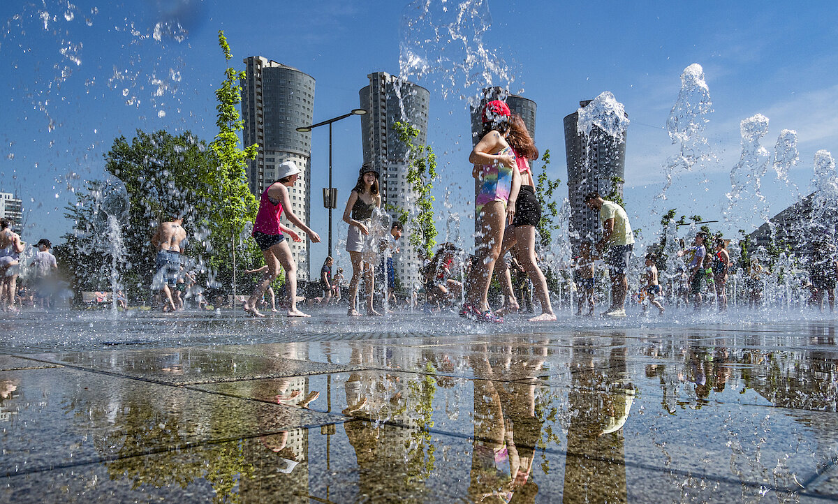
<path id="1" fill-rule="evenodd" d="M 592 340 L 579 338 L 573 344 L 565 502 L 625 502 L 628 498 L 623 424 L 629 418 L 634 385 L 626 381 L 624 335 L 614 334 L 610 340 L 608 357 L 598 359 Z"/>

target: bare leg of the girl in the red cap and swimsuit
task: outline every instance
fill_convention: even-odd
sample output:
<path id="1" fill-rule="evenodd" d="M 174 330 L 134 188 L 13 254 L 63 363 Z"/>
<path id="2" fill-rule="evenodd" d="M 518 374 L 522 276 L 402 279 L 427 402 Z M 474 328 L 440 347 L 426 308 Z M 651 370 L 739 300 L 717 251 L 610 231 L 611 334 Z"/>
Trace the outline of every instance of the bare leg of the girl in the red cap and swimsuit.
<path id="1" fill-rule="evenodd" d="M 489 283 L 492 280 L 494 263 L 498 260 L 504 238 L 504 221 L 506 220 L 504 203 L 499 201 L 486 203 L 478 219 L 483 239 L 477 249 L 476 264 L 468 275 L 466 302 L 479 311 L 488 311 Z"/>

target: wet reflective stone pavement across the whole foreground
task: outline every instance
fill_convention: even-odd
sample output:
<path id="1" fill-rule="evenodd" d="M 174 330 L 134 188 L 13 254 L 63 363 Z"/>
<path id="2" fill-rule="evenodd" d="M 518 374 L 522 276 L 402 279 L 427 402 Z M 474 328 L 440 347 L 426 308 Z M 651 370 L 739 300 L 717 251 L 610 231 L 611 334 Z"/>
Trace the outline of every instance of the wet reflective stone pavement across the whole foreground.
<path id="1" fill-rule="evenodd" d="M 0 501 L 835 500 L 838 324 L 757 318 L 24 314 Z"/>

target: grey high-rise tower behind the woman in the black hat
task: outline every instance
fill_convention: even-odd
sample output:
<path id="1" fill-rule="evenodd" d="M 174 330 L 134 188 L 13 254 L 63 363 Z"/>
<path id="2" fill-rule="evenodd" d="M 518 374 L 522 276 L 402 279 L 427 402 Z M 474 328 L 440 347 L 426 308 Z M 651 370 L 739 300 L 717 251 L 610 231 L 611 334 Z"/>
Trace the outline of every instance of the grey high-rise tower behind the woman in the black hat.
<path id="1" fill-rule="evenodd" d="M 395 122 L 407 122 L 419 130 L 413 141 L 427 143 L 427 113 L 431 94 L 420 85 L 399 79 L 386 72 L 367 75 L 370 85 L 359 91 L 360 106 L 369 113 L 361 116 L 361 143 L 364 162 L 379 171 L 381 207 L 387 204 L 410 209 L 416 194 L 407 183 L 407 146 L 399 140 L 393 127 Z M 401 285 L 420 285 L 417 250 L 405 237 L 401 253 L 394 258 L 396 277 Z"/>

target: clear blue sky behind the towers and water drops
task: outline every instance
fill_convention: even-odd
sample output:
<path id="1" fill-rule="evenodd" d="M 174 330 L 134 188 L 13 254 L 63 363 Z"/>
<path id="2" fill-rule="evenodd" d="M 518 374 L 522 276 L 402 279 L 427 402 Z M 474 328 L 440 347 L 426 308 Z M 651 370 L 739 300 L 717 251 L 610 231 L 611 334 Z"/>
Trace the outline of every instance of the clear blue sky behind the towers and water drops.
<path id="1" fill-rule="evenodd" d="M 739 122 L 757 113 L 770 121 L 763 139 L 769 152 L 779 131 L 798 131 L 800 160 L 790 177 L 800 188 L 809 186 L 815 151 L 838 153 L 838 7 L 833 2 L 437 1 L 428 24 L 418 29 L 427 35 L 429 41 L 421 45 L 432 59 L 456 63 L 462 58 L 462 47 L 447 35 L 437 39 L 432 29 L 451 23 L 461 5 L 473 8 L 460 25 L 468 47 L 494 54 L 486 60 L 494 65 L 493 83 L 510 84 L 500 74 L 512 75 L 510 90 L 537 102 L 535 140 L 542 151 L 551 149 L 554 177 L 566 180 L 562 118 L 576 111 L 578 101 L 609 90 L 625 105 L 631 120 L 625 196 L 635 227 L 658 227 L 653 212 L 658 208 L 651 200 L 663 186 L 666 157 L 676 151 L 665 121 L 689 64 L 705 70 L 714 110 L 707 135 L 716 161 L 677 176 L 661 208 L 719 219 L 723 194 L 730 190 L 729 172 L 739 159 Z M 70 8 L 53 0 L 3 3 L 0 92 L 7 100 L 0 188 L 23 197 L 24 239 L 43 235 L 58 241 L 68 229 L 63 208 L 74 200 L 73 189 L 103 176 L 102 156 L 115 136 L 165 128 L 212 139 L 213 92 L 225 69 L 218 29 L 225 30 L 239 67 L 242 58 L 259 54 L 312 75 L 317 80 L 314 116 L 321 121 L 358 106 L 358 90 L 370 72 L 399 74 L 402 17 L 415 19 L 414 13 L 413 3 L 392 0 L 74 0 Z M 154 37 L 155 24 L 173 27 L 176 21 L 183 29 L 163 29 Z M 487 68 L 480 61 L 472 72 Z M 466 85 L 473 80 L 473 75 L 442 69 L 418 80 L 432 92 L 429 141 L 440 158 L 439 195 L 449 188 L 453 211 L 463 213 L 473 195 L 471 184 L 461 182 L 471 169 L 462 96 L 478 90 Z M 327 134 L 325 129 L 313 133 L 314 177 L 326 173 Z M 356 119 L 335 125 L 335 186 L 341 198 L 360 166 L 359 140 Z M 770 176 L 763 192 L 773 214 L 792 203 L 793 195 Z M 326 213 L 316 203 L 313 208 L 313 228 L 325 238 Z M 442 211 L 442 204 L 437 209 Z M 753 207 L 734 210 L 725 229 L 758 224 Z M 651 234 L 645 236 L 651 240 Z M 313 265 L 324 256 L 325 245 L 313 245 Z"/>

